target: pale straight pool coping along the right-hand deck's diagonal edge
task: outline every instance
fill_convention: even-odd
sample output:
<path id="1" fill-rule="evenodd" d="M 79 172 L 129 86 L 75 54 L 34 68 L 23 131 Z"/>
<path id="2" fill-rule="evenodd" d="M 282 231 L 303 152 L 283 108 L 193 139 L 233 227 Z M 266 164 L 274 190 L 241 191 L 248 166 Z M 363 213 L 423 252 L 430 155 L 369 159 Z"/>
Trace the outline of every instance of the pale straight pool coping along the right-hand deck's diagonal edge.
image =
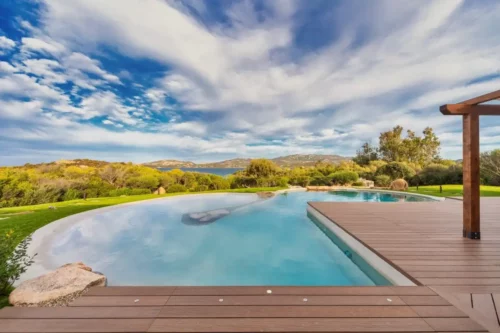
<path id="1" fill-rule="evenodd" d="M 363 258 L 368 265 L 379 272 L 384 278 L 395 286 L 416 286 L 408 277 L 394 268 L 387 261 L 378 256 L 375 252 L 367 248 L 356 238 L 339 227 L 334 221 L 331 221 L 311 205 L 307 206 L 307 212 L 311 214 L 324 227 L 328 228 L 337 237 L 339 237 L 352 251 Z"/>

